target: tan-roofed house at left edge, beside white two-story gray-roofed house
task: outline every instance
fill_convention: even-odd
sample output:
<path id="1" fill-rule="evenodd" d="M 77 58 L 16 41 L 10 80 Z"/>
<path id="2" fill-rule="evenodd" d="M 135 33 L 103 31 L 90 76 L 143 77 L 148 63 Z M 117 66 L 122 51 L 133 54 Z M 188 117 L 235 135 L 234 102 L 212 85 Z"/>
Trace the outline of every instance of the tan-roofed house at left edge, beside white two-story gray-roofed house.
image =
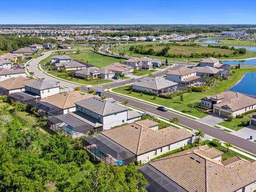
<path id="1" fill-rule="evenodd" d="M 9 95 L 25 91 L 25 84 L 35 81 L 28 77 L 18 76 L 0 82 L 0 95 Z"/>

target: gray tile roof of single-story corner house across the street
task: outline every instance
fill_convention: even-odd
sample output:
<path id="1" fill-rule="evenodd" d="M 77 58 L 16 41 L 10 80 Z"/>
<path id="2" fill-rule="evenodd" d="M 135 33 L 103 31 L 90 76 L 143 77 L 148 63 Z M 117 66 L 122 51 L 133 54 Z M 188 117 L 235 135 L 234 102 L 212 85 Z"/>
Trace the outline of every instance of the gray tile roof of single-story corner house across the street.
<path id="1" fill-rule="evenodd" d="M 178 85 L 178 83 L 166 80 L 163 77 L 145 77 L 133 83 L 132 85 L 146 87 L 148 89 L 161 90 L 166 87 Z"/>

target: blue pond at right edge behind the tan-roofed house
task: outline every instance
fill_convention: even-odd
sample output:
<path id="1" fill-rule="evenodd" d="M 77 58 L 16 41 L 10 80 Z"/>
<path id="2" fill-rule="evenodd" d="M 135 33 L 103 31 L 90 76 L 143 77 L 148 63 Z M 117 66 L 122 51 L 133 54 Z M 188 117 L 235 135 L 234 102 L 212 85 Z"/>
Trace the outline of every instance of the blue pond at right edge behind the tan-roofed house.
<path id="1" fill-rule="evenodd" d="M 239 83 L 231 87 L 230 91 L 256 96 L 256 73 L 246 73 Z"/>

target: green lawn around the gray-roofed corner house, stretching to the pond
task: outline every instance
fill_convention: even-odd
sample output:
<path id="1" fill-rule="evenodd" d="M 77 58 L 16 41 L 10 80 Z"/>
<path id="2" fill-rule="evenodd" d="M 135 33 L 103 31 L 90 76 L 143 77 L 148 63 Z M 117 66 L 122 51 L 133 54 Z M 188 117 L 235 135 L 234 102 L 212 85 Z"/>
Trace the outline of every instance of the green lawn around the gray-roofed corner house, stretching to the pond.
<path id="1" fill-rule="evenodd" d="M 192 113 L 190 113 L 190 109 L 187 107 L 188 103 L 199 102 L 201 98 L 228 90 L 230 87 L 234 86 L 239 81 L 239 79 L 241 79 L 243 75 L 247 72 L 256 72 L 256 69 L 250 69 L 250 68 L 237 69 L 235 70 L 235 74 L 231 76 L 228 80 L 219 82 L 217 86 L 209 87 L 209 89 L 205 92 L 202 92 L 202 93 L 192 92 L 192 93 L 183 94 L 183 102 L 180 101 L 180 97 L 175 97 L 173 99 L 164 99 L 164 98 L 157 97 L 155 100 L 153 99 L 153 95 L 143 94 L 141 97 L 140 93 L 137 93 L 137 92 L 129 93 L 129 91 L 127 91 L 127 87 L 125 86 L 117 87 L 113 89 L 113 91 L 117 93 L 127 94 L 134 98 L 143 99 L 149 102 L 154 102 L 157 105 L 170 107 L 175 110 L 179 110 L 183 113 L 202 118 L 207 115 L 199 112 L 196 109 L 192 109 Z"/>

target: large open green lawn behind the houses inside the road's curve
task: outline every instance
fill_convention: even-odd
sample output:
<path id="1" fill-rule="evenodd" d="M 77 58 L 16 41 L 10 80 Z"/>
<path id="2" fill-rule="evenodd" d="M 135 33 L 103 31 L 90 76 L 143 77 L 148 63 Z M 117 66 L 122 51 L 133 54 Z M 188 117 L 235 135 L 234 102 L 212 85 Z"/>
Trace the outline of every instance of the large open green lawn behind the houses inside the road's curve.
<path id="1" fill-rule="evenodd" d="M 57 56 L 57 55 L 64 55 L 64 54 L 51 54 L 49 57 L 40 61 L 39 64 L 49 62 L 51 60 L 51 57 L 53 57 L 53 55 Z M 125 59 L 108 57 L 108 56 L 101 55 L 101 54 L 98 54 L 92 51 L 87 51 L 87 50 L 80 50 L 79 54 L 67 54 L 67 55 L 73 60 L 77 59 L 82 62 L 89 62 L 90 64 L 99 68 L 106 67 L 114 62 L 125 61 Z"/>

